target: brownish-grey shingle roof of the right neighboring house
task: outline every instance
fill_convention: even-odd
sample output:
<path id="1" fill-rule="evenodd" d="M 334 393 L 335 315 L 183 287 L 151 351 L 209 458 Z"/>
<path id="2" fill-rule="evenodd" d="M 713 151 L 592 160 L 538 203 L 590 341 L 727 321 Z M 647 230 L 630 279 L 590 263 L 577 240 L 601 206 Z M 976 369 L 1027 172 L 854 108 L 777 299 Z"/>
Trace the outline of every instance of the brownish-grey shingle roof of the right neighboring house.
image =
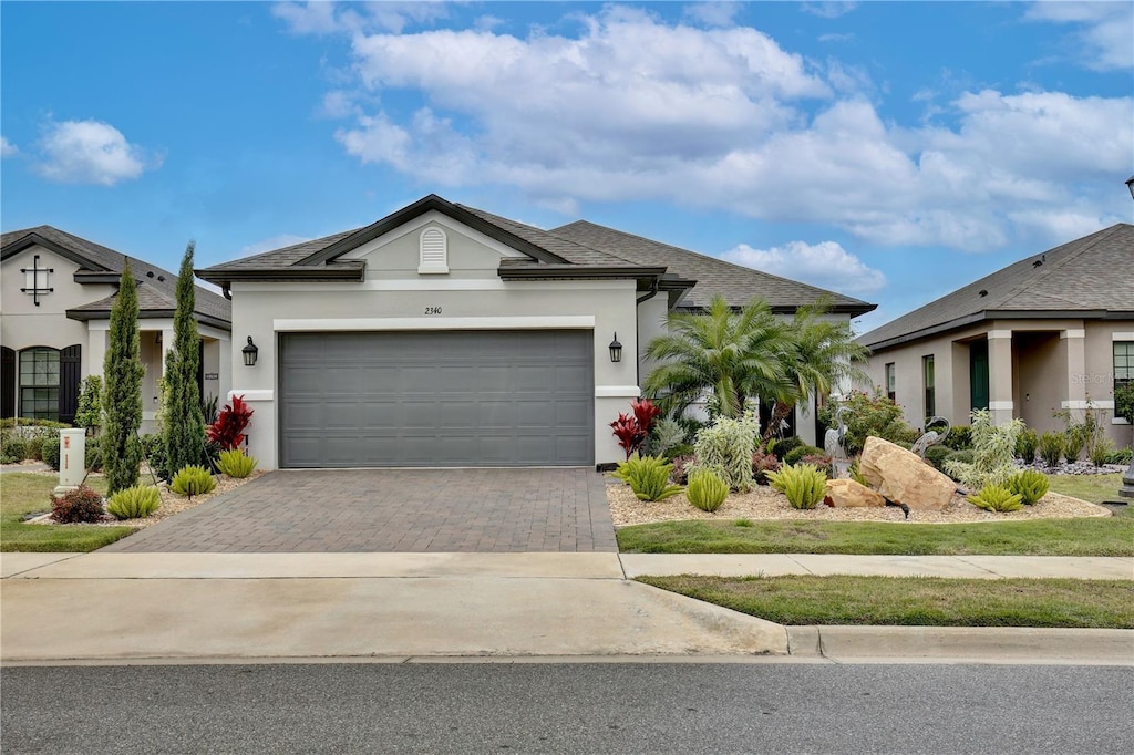
<path id="1" fill-rule="evenodd" d="M 873 350 L 983 320 L 1134 316 L 1134 226 L 1118 223 L 985 275 L 858 337 Z"/>

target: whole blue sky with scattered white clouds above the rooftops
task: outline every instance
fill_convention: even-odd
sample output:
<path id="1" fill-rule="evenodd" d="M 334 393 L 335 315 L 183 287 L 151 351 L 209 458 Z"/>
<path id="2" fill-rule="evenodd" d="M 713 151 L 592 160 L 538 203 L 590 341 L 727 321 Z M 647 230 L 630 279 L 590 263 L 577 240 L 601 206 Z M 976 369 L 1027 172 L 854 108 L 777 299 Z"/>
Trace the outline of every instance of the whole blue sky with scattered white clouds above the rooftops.
<path id="1" fill-rule="evenodd" d="M 434 192 L 878 303 L 1134 221 L 1134 3 L 0 3 L 0 226 L 176 269 Z"/>

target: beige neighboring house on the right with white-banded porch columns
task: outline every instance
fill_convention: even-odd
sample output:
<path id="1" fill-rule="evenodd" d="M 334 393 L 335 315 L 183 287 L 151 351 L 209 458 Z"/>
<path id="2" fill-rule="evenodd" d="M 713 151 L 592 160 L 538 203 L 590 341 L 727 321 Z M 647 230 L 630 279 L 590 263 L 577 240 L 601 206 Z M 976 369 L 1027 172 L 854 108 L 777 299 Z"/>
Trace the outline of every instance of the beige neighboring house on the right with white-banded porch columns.
<path id="1" fill-rule="evenodd" d="M 1021 417 L 1063 430 L 1053 412 L 1082 421 L 1106 412 L 1109 436 L 1129 442 L 1114 417 L 1115 385 L 1134 380 L 1134 226 L 1119 223 L 1008 265 L 858 338 L 871 380 L 922 426 L 940 415 L 967 424 Z"/>

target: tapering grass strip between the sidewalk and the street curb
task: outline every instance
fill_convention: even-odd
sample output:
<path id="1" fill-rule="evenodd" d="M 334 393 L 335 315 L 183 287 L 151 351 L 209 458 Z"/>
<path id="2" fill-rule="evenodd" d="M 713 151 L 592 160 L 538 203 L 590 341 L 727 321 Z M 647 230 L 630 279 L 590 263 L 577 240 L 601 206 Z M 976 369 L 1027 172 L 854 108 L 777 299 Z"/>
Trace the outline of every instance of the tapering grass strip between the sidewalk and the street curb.
<path id="1" fill-rule="evenodd" d="M 777 623 L 1134 628 L 1134 580 L 638 577 Z"/>

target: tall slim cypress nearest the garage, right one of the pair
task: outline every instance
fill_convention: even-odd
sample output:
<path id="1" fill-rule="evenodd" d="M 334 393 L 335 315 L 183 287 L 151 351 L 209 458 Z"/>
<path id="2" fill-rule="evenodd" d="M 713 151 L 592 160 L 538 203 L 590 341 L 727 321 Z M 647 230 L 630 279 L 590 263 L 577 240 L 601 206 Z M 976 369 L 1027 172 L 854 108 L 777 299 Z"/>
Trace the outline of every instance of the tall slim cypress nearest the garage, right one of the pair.
<path id="1" fill-rule="evenodd" d="M 193 288 L 194 243 L 185 247 L 181 269 L 177 273 L 177 309 L 174 312 L 174 348 L 166 358 L 166 383 L 169 406 L 166 407 L 166 452 L 169 473 L 177 474 L 189 464 L 204 458 L 205 419 L 201 413 L 201 389 L 197 368 L 201 364 L 201 336 L 193 317 L 196 306 Z"/>

